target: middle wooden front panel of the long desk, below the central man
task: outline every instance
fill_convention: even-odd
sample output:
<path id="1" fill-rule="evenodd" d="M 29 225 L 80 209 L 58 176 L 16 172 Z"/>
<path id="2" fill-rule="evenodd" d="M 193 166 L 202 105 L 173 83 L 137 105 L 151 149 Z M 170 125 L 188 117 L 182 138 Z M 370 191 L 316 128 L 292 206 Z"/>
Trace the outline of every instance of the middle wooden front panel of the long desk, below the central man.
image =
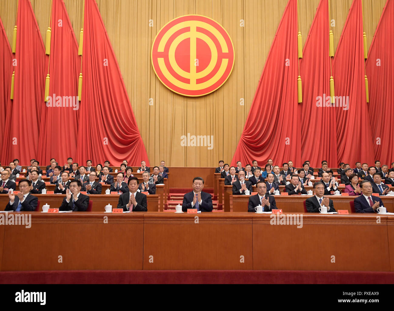
<path id="1" fill-rule="evenodd" d="M 143 266 L 144 270 L 252 269 L 251 217 L 145 213 Z"/>

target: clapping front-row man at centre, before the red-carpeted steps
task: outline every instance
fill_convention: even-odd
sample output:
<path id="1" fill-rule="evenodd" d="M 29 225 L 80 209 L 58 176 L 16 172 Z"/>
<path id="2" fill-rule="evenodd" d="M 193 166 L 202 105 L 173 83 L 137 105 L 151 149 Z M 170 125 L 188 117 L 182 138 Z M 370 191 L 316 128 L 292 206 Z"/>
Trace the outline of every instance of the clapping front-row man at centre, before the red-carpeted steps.
<path id="1" fill-rule="evenodd" d="M 203 191 L 204 179 L 194 177 L 192 188 L 193 191 L 183 196 L 182 212 L 187 212 L 188 208 L 197 208 L 197 211 L 201 212 L 212 212 L 212 195 Z"/>

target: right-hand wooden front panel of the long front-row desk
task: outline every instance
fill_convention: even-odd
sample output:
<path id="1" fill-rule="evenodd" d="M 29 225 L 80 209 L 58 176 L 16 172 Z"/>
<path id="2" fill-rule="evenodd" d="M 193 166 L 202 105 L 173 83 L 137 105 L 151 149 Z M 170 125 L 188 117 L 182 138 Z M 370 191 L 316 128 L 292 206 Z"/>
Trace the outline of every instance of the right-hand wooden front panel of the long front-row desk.
<path id="1" fill-rule="evenodd" d="M 270 220 L 253 213 L 254 270 L 390 271 L 387 216 L 303 214 L 302 228 Z"/>

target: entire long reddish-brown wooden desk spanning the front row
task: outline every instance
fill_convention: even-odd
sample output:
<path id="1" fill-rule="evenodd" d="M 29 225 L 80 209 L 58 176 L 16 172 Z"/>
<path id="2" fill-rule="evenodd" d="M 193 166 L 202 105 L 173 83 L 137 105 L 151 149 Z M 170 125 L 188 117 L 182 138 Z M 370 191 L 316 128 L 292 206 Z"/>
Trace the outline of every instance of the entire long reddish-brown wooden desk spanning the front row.
<path id="1" fill-rule="evenodd" d="M 39 213 L 0 225 L 1 271 L 394 271 L 394 216 Z M 196 218 L 197 217 L 197 218 Z M 301 218 L 302 217 L 302 218 Z"/>

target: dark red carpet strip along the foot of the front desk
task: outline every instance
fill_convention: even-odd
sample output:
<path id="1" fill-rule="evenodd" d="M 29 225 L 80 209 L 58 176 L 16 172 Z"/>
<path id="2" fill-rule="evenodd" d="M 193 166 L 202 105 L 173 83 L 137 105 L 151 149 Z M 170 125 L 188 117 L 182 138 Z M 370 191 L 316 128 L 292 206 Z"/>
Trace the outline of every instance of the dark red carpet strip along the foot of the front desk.
<path id="1" fill-rule="evenodd" d="M 2 284 L 392 284 L 394 272 L 10 271 Z"/>

